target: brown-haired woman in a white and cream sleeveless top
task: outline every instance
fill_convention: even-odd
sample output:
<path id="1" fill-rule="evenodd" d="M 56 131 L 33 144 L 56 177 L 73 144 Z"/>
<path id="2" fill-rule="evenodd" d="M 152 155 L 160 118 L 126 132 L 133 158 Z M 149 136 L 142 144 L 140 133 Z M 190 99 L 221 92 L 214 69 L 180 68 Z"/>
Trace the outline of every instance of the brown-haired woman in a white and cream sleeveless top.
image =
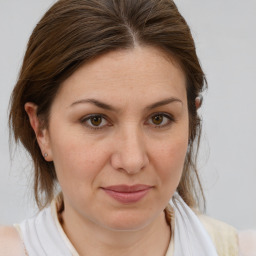
<path id="1" fill-rule="evenodd" d="M 236 230 L 197 210 L 204 86 L 174 2 L 53 5 L 10 110 L 41 211 L 1 229 L 0 255 L 239 255 Z"/>

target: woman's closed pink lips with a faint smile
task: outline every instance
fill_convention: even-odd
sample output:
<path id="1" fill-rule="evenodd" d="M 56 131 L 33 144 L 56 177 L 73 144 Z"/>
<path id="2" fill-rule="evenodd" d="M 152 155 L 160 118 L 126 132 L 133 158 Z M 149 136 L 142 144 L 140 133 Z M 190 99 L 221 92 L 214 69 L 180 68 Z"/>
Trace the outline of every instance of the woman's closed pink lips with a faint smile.
<path id="1" fill-rule="evenodd" d="M 135 203 L 141 200 L 152 189 L 152 186 L 148 185 L 117 185 L 102 188 L 109 196 L 117 201 L 128 204 Z"/>

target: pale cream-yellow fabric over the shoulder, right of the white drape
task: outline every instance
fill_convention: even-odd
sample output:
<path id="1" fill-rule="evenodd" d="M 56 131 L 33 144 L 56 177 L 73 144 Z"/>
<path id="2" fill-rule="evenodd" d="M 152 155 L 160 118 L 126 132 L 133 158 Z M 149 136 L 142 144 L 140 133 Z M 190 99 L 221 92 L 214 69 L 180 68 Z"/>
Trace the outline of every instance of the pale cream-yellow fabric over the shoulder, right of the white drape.
<path id="1" fill-rule="evenodd" d="M 205 215 L 198 217 L 215 244 L 218 255 L 239 254 L 238 231 L 233 226 Z"/>

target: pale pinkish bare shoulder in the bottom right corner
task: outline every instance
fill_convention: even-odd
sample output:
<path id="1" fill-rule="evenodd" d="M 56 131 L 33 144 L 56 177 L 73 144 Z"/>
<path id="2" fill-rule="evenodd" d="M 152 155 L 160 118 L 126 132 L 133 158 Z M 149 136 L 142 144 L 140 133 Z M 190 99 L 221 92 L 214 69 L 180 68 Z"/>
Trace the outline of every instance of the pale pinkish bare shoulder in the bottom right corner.
<path id="1" fill-rule="evenodd" d="M 240 231 L 239 248 L 242 256 L 256 256 L 256 230 Z"/>

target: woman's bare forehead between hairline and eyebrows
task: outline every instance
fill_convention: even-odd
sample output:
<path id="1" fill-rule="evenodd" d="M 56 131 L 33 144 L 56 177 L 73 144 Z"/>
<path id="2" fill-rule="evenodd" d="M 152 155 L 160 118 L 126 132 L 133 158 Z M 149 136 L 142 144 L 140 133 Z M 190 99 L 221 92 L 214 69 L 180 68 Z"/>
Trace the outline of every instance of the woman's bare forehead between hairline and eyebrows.
<path id="1" fill-rule="evenodd" d="M 62 83 L 56 98 L 66 103 L 83 97 L 152 101 L 167 94 L 186 97 L 183 70 L 157 48 L 136 47 L 109 52 L 84 64 Z"/>

